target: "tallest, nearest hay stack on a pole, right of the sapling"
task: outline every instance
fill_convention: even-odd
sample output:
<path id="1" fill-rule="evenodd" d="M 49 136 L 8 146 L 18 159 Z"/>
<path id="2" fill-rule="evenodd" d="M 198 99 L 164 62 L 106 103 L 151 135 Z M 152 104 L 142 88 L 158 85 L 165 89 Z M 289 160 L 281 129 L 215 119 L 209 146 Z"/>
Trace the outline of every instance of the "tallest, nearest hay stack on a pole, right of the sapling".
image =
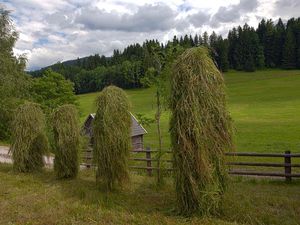
<path id="1" fill-rule="evenodd" d="M 214 213 L 226 185 L 224 151 L 233 144 L 223 76 L 207 48 L 187 49 L 175 62 L 170 107 L 178 208 Z"/>

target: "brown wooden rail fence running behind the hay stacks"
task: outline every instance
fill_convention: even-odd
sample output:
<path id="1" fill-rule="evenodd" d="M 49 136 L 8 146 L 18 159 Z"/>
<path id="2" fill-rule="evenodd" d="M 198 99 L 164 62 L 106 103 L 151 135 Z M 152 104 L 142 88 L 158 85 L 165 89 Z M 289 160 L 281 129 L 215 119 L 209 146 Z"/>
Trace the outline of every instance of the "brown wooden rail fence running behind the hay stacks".
<path id="1" fill-rule="evenodd" d="M 86 157 L 85 165 L 87 167 L 91 167 L 91 150 L 89 151 L 90 155 Z M 141 156 L 141 154 L 145 154 Z M 132 151 L 131 161 L 134 162 L 145 162 L 144 165 L 131 165 L 130 168 L 134 170 L 145 170 L 149 176 L 153 174 L 153 171 L 158 170 L 159 168 L 156 166 L 158 158 L 156 154 L 158 150 L 152 150 L 147 147 L 144 150 L 136 150 Z M 163 151 L 163 154 L 171 154 L 172 151 Z M 263 177 L 283 177 L 287 181 L 291 181 L 294 178 L 300 178 L 300 170 L 299 173 L 292 173 L 292 168 L 300 168 L 300 163 L 292 163 L 293 158 L 300 159 L 300 153 L 292 154 L 290 151 L 285 151 L 284 153 L 250 153 L 250 152 L 230 152 L 225 153 L 227 157 L 226 164 L 229 166 L 229 174 L 230 175 L 240 175 L 240 176 L 263 176 Z M 246 157 L 247 161 L 237 161 L 237 158 Z M 160 160 L 162 163 L 166 163 L 167 166 L 162 167 L 162 170 L 172 171 L 172 160 L 171 157 L 162 157 Z M 260 162 L 260 160 L 256 160 L 258 158 L 281 158 L 282 162 Z M 233 160 L 234 159 L 234 160 Z M 252 161 L 249 162 L 249 159 Z M 232 161 L 229 161 L 232 160 Z M 268 160 L 270 161 L 270 160 Z M 277 160 L 278 161 L 278 160 Z M 234 167 L 234 169 L 232 169 Z M 236 169 L 238 167 L 238 169 Z M 242 167 L 242 168 L 241 168 Z M 248 168 L 252 167 L 255 170 L 249 170 Z M 274 171 L 266 171 L 264 168 L 282 168 L 281 172 Z"/>

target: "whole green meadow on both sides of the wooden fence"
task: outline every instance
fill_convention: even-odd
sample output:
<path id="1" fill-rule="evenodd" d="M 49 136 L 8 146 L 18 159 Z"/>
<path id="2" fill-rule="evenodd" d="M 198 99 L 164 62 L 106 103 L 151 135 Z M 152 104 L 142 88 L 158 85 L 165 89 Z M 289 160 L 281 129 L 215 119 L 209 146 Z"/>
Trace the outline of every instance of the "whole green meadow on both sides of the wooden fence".
<path id="1" fill-rule="evenodd" d="M 265 70 L 225 74 L 228 109 L 237 151 L 299 152 L 300 71 Z M 126 90 L 134 114 L 155 114 L 154 89 Z M 94 112 L 97 93 L 78 96 L 81 123 Z M 162 116 L 164 149 L 170 147 L 169 112 Z M 146 127 L 145 145 L 157 147 L 155 124 Z M 0 164 L 0 224 L 274 224 L 300 221 L 299 180 L 230 177 L 220 212 L 210 217 L 179 216 L 171 177 L 157 188 L 155 177 L 130 173 L 124 188 L 107 193 L 96 186 L 92 169 L 73 180 L 52 170 L 20 174 Z M 5 182 L 4 182 L 5 181 Z"/>

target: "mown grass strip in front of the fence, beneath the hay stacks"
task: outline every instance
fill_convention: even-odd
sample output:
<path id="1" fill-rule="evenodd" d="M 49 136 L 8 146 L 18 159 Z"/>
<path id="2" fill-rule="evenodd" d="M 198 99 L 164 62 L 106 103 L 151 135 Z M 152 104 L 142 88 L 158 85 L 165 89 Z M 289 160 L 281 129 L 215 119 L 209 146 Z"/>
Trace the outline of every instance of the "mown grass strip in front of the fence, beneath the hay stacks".
<path id="1" fill-rule="evenodd" d="M 174 213 L 170 179 L 156 190 L 154 179 L 131 175 L 122 190 L 96 188 L 93 171 L 75 180 L 57 180 L 51 171 L 12 172 L 0 164 L 0 224 L 280 224 L 300 221 L 299 183 L 234 179 L 221 214 L 184 218 Z"/>

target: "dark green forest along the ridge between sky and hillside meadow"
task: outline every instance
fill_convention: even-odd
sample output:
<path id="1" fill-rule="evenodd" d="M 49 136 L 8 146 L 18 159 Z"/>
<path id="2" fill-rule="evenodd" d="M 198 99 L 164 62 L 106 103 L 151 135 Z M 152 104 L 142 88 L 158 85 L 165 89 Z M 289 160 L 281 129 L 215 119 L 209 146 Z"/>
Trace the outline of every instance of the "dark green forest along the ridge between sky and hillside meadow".
<path id="1" fill-rule="evenodd" d="M 148 76 L 158 74 L 156 61 L 163 70 L 183 50 L 200 45 L 210 47 L 216 65 L 223 72 L 300 68 L 300 18 L 291 18 L 286 23 L 281 19 L 276 23 L 262 19 L 257 29 L 247 24 L 238 26 L 229 31 L 227 38 L 204 32 L 174 36 L 166 44 L 146 40 L 123 51 L 114 50 L 111 57 L 95 54 L 29 73 L 39 77 L 51 68 L 74 83 L 76 94 L 99 91 L 109 84 L 126 89 L 147 87 Z M 158 59 L 153 59 L 153 55 Z"/>

